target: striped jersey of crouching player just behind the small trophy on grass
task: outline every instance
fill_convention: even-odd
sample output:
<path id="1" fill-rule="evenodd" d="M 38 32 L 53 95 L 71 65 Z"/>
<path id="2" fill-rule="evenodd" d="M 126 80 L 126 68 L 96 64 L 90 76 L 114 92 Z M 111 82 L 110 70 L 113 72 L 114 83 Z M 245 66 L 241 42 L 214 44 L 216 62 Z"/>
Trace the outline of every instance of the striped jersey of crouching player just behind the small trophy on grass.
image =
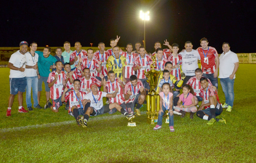
<path id="1" fill-rule="evenodd" d="M 138 95 L 140 92 L 140 87 L 144 88 L 142 82 L 139 79 L 136 87 L 134 87 L 130 81 L 126 83 L 124 87 L 124 94 L 127 94 L 128 91 L 131 91 L 132 95 L 130 95 L 130 99 L 126 100 L 125 103 L 133 102 L 135 100 L 136 95 Z"/>

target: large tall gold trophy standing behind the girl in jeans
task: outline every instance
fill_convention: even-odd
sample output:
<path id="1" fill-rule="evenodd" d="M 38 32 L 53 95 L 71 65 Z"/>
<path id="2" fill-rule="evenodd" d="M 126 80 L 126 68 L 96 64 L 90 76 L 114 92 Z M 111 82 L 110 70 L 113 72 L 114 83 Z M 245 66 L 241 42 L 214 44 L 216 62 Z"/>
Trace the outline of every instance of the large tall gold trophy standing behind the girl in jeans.
<path id="1" fill-rule="evenodd" d="M 152 70 L 145 72 L 145 75 L 148 78 L 147 81 L 150 85 L 150 91 L 146 96 L 146 101 L 148 121 L 150 122 L 150 124 L 155 124 L 157 122 L 158 111 L 160 109 L 160 96 L 158 92 L 155 91 L 155 88 L 158 86 L 158 79 L 162 71 L 154 70 L 154 67 L 156 65 L 156 55 L 152 56 L 152 61 L 153 62 L 150 66 Z"/>

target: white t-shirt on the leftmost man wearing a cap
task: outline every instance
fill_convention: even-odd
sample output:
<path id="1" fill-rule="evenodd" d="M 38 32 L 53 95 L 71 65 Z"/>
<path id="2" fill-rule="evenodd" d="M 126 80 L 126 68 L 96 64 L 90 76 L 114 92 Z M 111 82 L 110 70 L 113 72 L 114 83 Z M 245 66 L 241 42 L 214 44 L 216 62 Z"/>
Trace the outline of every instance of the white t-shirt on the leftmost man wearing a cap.
<path id="1" fill-rule="evenodd" d="M 26 52 L 28 53 L 28 52 Z M 14 54 L 12 54 L 10 60 L 10 63 L 13 64 L 13 66 L 15 66 L 16 68 L 25 68 L 26 66 L 26 54 L 21 54 L 20 50 L 18 50 L 17 52 L 15 52 Z M 9 78 L 24 78 L 26 76 L 25 71 L 21 72 L 18 70 L 10 70 L 10 76 Z"/>

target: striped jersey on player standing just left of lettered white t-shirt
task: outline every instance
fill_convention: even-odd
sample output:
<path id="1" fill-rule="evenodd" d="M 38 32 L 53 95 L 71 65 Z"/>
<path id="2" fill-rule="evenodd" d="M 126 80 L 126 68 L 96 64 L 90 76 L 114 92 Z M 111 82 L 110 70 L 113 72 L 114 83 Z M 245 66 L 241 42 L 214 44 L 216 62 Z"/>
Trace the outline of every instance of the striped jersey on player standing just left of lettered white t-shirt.
<path id="1" fill-rule="evenodd" d="M 180 80 L 181 72 L 180 72 L 180 65 L 182 64 L 182 55 L 178 54 L 177 57 L 174 57 L 173 54 L 171 54 L 168 58 L 169 62 L 172 62 L 172 66 L 179 65 L 178 68 L 173 68 L 171 74 L 177 78 L 177 80 Z"/>

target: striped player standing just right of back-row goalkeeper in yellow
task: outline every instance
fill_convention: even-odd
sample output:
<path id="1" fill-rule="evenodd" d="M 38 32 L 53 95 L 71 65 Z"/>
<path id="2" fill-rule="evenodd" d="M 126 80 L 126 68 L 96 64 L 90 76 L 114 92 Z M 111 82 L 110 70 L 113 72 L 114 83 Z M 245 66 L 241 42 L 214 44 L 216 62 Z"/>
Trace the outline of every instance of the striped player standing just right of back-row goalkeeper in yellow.
<path id="1" fill-rule="evenodd" d="M 124 57 L 126 58 L 127 66 L 125 66 L 124 78 L 126 82 L 128 82 L 130 81 L 130 76 L 135 75 L 135 72 L 133 70 L 133 63 L 137 54 L 132 52 L 132 44 L 126 45 L 126 51 L 127 52 L 124 52 Z"/>

